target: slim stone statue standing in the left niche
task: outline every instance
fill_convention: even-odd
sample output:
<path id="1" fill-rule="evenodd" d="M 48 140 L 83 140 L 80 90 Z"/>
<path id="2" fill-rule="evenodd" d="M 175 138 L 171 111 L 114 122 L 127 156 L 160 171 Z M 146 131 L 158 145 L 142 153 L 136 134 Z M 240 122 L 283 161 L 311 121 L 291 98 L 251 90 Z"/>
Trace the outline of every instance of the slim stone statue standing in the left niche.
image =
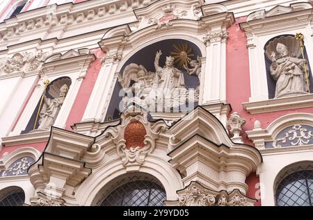
<path id="1" fill-rule="evenodd" d="M 46 95 L 44 98 L 44 104 L 42 106 L 42 110 L 40 111 L 40 119 L 38 130 L 49 130 L 51 126 L 54 125 L 54 121 L 58 116 L 58 112 L 60 111 L 66 93 L 68 90 L 68 86 L 64 84 L 60 89 L 60 94 L 57 98 L 49 99 Z"/>

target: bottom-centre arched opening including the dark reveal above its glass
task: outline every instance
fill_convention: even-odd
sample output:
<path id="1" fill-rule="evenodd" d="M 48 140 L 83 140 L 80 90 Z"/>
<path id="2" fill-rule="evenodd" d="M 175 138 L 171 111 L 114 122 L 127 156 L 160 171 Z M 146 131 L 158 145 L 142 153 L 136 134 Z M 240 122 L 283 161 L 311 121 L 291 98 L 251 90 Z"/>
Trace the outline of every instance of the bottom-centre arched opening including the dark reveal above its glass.
<path id="1" fill-rule="evenodd" d="M 124 196 L 129 198 L 125 199 L 123 198 Z M 147 200 L 147 204 L 145 204 L 145 200 Z M 149 200 L 152 200 L 152 202 L 150 201 L 149 203 Z M 150 174 L 134 172 L 118 176 L 104 185 L 97 196 L 95 196 L 92 205 L 160 206 L 164 205 L 163 201 L 166 201 L 166 192 L 161 182 Z"/>

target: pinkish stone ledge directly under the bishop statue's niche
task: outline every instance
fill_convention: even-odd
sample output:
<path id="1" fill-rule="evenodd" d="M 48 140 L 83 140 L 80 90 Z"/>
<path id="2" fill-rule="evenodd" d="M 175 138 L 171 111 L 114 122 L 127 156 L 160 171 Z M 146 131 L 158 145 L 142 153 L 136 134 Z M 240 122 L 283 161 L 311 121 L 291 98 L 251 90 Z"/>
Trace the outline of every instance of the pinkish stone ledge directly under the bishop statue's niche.
<path id="1" fill-rule="evenodd" d="M 264 112 L 276 112 L 281 110 L 291 110 L 296 108 L 313 107 L 313 94 L 300 96 L 289 96 L 278 99 L 268 99 L 265 101 L 254 101 L 242 103 L 243 109 L 250 114 Z"/>

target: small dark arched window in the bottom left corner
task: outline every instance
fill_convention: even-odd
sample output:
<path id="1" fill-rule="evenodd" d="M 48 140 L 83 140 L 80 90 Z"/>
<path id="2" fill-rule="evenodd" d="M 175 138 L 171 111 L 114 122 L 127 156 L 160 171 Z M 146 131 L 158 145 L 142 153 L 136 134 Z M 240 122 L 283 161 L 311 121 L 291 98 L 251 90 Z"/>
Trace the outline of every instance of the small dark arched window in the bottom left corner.
<path id="1" fill-rule="evenodd" d="M 22 206 L 25 194 L 20 187 L 8 187 L 0 192 L 0 206 Z"/>

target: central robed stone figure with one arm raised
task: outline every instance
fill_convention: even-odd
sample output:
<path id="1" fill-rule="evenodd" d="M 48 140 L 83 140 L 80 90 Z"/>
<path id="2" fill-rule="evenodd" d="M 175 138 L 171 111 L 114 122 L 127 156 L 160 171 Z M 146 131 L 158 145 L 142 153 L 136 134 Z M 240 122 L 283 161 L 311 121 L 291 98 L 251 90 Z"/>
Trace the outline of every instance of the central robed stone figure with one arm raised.
<path id="1" fill-rule="evenodd" d="M 161 55 L 162 52 L 158 51 L 155 56 L 154 67 L 157 76 L 159 76 L 161 80 L 158 88 L 162 91 L 162 94 L 172 94 L 173 90 L 176 88 L 186 88 L 182 71 L 174 67 L 174 58 L 171 56 L 166 57 L 165 67 L 159 67 Z"/>

